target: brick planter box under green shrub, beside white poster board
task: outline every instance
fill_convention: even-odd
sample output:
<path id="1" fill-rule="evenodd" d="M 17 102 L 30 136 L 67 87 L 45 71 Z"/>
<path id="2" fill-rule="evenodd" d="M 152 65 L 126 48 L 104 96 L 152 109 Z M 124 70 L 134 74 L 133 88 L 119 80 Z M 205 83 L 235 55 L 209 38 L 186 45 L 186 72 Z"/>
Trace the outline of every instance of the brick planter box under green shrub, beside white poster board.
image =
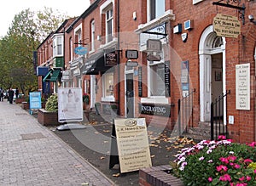
<path id="1" fill-rule="evenodd" d="M 46 127 L 61 125 L 58 121 L 58 112 L 49 112 L 44 109 L 38 109 L 38 122 Z"/>

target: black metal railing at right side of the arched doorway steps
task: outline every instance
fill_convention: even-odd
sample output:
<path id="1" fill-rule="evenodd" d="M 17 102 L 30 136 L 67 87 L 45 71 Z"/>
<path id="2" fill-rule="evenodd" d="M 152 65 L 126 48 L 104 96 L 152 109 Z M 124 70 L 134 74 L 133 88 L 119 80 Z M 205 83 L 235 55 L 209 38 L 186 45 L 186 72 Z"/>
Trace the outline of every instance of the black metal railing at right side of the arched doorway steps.
<path id="1" fill-rule="evenodd" d="M 219 135 L 224 135 L 228 138 L 227 122 L 224 121 L 224 114 L 226 107 L 224 107 L 224 98 L 230 94 L 230 90 L 225 94 L 218 96 L 217 99 L 212 101 L 211 104 L 211 140 L 218 140 Z M 225 110 L 224 110 L 225 108 Z"/>

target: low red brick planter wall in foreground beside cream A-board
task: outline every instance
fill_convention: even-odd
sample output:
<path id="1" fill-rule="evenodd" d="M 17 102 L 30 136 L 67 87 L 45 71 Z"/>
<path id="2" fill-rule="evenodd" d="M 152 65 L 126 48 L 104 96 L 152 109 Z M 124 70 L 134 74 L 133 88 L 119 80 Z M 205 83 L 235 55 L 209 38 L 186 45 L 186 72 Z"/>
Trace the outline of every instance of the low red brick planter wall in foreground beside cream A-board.
<path id="1" fill-rule="evenodd" d="M 139 170 L 140 186 L 184 186 L 179 178 L 168 173 L 171 166 L 153 166 Z"/>

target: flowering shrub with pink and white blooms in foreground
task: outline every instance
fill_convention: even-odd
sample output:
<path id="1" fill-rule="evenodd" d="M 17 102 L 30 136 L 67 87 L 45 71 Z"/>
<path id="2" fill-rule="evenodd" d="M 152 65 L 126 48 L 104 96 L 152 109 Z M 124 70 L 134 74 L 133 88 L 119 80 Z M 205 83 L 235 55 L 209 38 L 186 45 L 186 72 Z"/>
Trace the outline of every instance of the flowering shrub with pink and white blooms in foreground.
<path id="1" fill-rule="evenodd" d="M 237 144 L 220 137 L 182 149 L 171 162 L 185 185 L 256 185 L 256 143 Z"/>

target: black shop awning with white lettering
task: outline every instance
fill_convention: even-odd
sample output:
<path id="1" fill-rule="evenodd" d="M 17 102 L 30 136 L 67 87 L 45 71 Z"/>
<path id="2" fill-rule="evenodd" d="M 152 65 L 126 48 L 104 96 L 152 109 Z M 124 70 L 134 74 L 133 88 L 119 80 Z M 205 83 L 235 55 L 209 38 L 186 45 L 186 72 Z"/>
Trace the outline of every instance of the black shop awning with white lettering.
<path id="1" fill-rule="evenodd" d="M 82 68 L 83 75 L 98 75 L 101 71 L 106 72 L 110 66 L 106 66 L 104 62 L 104 52 L 93 54 L 89 59 L 85 60 Z"/>

